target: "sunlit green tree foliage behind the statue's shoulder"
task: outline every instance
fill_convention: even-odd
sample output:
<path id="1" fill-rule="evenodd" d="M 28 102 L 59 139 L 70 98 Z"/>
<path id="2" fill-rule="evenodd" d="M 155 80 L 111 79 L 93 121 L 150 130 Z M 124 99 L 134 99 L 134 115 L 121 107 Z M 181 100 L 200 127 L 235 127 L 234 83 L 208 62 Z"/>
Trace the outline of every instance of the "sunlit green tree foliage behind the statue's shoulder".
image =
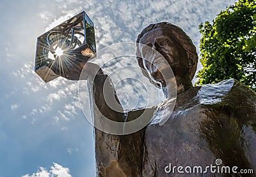
<path id="1" fill-rule="evenodd" d="M 239 0 L 199 28 L 204 69 L 196 84 L 235 78 L 256 91 L 256 0 Z"/>

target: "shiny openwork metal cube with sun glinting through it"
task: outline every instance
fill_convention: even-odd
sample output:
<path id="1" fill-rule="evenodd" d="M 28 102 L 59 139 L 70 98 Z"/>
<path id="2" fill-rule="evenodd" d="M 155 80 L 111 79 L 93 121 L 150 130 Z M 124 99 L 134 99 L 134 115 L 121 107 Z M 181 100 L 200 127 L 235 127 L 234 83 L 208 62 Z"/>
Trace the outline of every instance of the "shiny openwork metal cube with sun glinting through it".
<path id="1" fill-rule="evenodd" d="M 35 73 L 48 82 L 59 76 L 49 67 L 50 60 L 65 62 L 68 57 L 79 57 L 86 62 L 88 56 L 95 53 L 94 24 L 82 11 L 37 38 Z M 68 62 L 65 67 L 68 67 Z"/>

